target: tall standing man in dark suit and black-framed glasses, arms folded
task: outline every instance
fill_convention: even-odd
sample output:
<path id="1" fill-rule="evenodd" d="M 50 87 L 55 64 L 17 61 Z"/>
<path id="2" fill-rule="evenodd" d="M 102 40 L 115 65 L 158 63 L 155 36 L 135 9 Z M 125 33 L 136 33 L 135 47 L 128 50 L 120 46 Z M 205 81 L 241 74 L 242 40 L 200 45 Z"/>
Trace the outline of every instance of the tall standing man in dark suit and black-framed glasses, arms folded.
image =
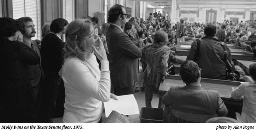
<path id="1" fill-rule="evenodd" d="M 106 32 L 110 77 L 114 93 L 118 96 L 134 93 L 135 82 L 138 81 L 138 58 L 142 57 L 141 50 L 121 29 L 127 16 L 122 5 L 113 5 L 107 19 L 110 23 Z"/>

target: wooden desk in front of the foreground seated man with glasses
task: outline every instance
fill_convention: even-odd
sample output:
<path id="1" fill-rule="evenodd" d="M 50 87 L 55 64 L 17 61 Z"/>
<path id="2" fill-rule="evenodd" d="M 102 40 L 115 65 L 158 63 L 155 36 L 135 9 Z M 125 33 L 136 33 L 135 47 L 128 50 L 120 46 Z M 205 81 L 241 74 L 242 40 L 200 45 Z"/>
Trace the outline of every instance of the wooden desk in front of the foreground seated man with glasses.
<path id="1" fill-rule="evenodd" d="M 231 98 L 232 87 L 237 87 L 241 83 L 236 81 L 225 81 L 218 79 L 206 79 L 201 78 L 201 85 L 204 89 L 216 90 L 219 92 L 221 99 L 224 101 L 224 104 L 228 109 L 228 117 L 234 118 L 234 113 L 242 111 L 243 100 L 235 100 Z M 180 76 L 168 75 L 165 77 L 164 82 L 160 84 L 159 95 L 161 97 L 170 89 L 171 86 L 184 86 Z M 159 99 L 160 101 L 160 99 Z M 161 101 L 160 101 L 161 102 Z M 182 104 L 182 103 L 181 103 Z M 164 118 L 167 118 L 169 108 L 164 107 Z"/>

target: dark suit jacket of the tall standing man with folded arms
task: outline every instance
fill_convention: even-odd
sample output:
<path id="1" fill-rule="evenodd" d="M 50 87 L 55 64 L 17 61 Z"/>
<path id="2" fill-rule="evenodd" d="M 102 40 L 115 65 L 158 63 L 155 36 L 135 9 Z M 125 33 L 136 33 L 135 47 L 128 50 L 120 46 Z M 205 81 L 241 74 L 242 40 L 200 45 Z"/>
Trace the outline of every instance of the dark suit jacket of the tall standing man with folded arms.
<path id="1" fill-rule="evenodd" d="M 130 40 L 128 35 L 115 25 L 110 25 L 106 33 L 109 49 L 109 69 L 111 84 L 126 88 L 138 81 L 138 58 L 141 50 Z"/>

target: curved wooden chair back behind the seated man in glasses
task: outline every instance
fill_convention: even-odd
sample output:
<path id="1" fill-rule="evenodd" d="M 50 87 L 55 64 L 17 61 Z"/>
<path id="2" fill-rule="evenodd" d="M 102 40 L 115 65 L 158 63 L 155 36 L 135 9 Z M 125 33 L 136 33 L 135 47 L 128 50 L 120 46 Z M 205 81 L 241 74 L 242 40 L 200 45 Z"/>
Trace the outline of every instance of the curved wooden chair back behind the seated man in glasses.
<path id="1" fill-rule="evenodd" d="M 218 114 L 192 114 L 178 111 L 175 109 L 171 109 L 171 113 L 178 118 L 178 123 L 205 123 L 210 118 L 218 117 Z"/>

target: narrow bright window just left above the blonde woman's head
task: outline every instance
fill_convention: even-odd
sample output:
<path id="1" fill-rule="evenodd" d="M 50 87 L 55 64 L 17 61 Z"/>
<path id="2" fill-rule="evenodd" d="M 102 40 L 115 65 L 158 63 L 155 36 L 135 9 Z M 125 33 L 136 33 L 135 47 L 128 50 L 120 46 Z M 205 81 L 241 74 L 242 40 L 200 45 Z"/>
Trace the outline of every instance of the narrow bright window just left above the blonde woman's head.
<path id="1" fill-rule="evenodd" d="M 63 18 L 67 20 L 68 23 L 74 20 L 74 0 L 63 0 Z M 66 41 L 65 35 L 63 35 L 64 42 Z"/>

